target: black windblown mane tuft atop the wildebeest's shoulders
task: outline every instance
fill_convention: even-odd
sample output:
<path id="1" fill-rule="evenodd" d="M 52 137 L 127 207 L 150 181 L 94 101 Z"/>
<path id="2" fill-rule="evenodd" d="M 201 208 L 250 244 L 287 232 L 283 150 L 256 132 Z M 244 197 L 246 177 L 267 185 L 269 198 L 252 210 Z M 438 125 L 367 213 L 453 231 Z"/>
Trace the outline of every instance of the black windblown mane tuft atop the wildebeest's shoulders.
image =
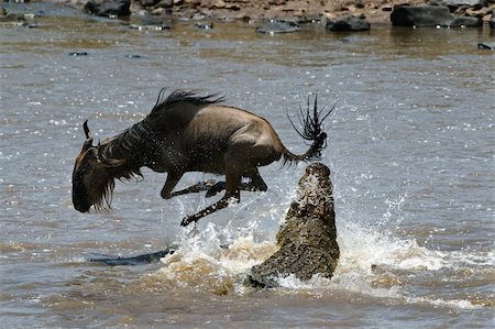
<path id="1" fill-rule="evenodd" d="M 165 91 L 167 88 L 162 88 L 156 99 L 156 103 L 151 111 L 151 116 L 156 114 L 163 110 L 166 110 L 170 105 L 178 101 L 193 102 L 195 105 L 212 105 L 223 101 L 223 96 L 218 94 L 211 94 L 206 96 L 199 96 L 198 90 L 174 90 L 170 95 L 165 97 Z"/>

